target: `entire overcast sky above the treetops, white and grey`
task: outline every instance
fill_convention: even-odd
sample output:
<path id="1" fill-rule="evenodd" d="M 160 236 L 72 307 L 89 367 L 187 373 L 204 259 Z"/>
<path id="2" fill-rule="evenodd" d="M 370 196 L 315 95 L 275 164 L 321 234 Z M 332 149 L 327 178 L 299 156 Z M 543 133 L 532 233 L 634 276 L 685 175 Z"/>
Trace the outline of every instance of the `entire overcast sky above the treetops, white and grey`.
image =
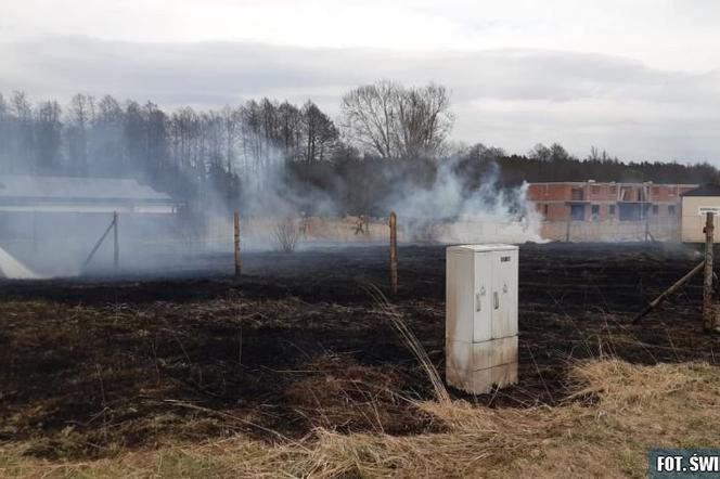
<path id="1" fill-rule="evenodd" d="M 0 0 L 0 91 L 220 107 L 388 78 L 452 92 L 453 139 L 720 166 L 717 0 Z"/>

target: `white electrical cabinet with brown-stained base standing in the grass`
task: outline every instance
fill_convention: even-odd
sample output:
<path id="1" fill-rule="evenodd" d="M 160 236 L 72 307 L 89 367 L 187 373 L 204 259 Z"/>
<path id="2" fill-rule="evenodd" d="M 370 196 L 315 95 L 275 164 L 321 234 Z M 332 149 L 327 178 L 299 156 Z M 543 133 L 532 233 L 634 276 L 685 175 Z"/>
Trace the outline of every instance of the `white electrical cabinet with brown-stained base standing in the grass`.
<path id="1" fill-rule="evenodd" d="M 480 394 L 517 383 L 518 248 L 447 249 L 446 379 Z"/>

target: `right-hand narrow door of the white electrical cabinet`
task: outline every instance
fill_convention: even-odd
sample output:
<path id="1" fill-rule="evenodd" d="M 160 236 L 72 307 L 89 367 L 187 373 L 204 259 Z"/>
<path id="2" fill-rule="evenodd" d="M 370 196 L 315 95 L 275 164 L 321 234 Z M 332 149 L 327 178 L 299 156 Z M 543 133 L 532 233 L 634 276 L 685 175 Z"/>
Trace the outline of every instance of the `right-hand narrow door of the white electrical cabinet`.
<path id="1" fill-rule="evenodd" d="M 492 251 L 492 338 L 517 334 L 517 250 Z"/>

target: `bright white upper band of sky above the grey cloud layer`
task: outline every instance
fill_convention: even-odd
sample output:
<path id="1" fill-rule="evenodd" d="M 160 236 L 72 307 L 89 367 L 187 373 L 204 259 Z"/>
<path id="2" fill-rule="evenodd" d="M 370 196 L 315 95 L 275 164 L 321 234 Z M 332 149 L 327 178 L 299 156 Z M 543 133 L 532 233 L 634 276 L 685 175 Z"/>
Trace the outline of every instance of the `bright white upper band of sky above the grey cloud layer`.
<path id="1" fill-rule="evenodd" d="M 720 66 L 715 0 L 24 0 L 0 38 L 256 41 L 404 50 L 549 49 L 625 55 L 651 66 Z"/>

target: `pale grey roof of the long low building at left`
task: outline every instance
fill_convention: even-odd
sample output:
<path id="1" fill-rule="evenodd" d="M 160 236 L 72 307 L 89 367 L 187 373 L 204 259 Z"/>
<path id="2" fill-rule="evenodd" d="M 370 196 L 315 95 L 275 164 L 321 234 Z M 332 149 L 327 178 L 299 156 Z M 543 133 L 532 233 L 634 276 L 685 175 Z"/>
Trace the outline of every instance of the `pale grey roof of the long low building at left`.
<path id="1" fill-rule="evenodd" d="M 0 200 L 10 198 L 90 202 L 172 200 L 166 193 L 159 193 L 131 179 L 0 176 Z"/>

